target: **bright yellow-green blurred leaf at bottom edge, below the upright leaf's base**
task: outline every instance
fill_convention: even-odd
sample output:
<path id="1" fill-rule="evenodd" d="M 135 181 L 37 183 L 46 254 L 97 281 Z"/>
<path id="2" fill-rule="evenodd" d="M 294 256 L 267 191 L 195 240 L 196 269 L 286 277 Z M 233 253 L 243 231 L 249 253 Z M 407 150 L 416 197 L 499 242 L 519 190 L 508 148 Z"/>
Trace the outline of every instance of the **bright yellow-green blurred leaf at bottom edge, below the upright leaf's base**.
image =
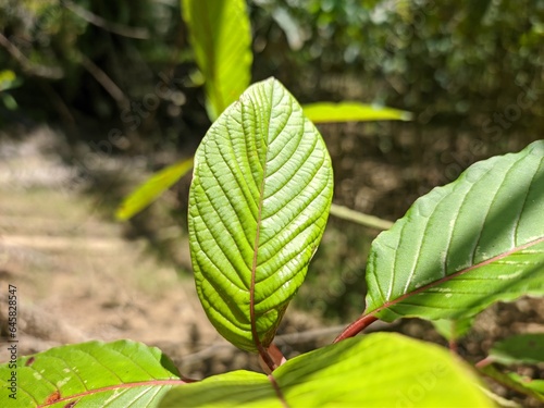
<path id="1" fill-rule="evenodd" d="M 438 346 L 375 333 L 298 356 L 270 376 L 237 371 L 175 387 L 160 407 L 493 407 L 478 382 Z"/>

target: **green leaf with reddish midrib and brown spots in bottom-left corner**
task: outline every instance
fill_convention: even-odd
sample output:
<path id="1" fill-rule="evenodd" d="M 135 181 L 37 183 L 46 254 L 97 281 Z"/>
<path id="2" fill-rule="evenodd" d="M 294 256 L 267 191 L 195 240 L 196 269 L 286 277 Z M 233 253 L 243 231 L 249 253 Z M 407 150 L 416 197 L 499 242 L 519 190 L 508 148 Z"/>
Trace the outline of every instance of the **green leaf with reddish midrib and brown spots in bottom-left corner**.
<path id="1" fill-rule="evenodd" d="M 16 364 L 0 366 L 1 407 L 157 407 L 173 385 L 184 383 L 158 348 L 131 341 L 55 347 Z M 10 388 L 13 372 L 16 390 Z"/>

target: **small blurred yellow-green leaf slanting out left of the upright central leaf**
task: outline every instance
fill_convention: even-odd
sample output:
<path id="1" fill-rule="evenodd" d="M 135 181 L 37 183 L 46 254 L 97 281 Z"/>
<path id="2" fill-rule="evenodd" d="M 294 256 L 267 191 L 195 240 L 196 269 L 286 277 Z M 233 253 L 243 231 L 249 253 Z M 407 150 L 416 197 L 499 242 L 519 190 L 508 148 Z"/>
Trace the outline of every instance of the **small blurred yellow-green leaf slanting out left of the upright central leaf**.
<path id="1" fill-rule="evenodd" d="M 131 219 L 159 198 L 190 169 L 193 169 L 193 158 L 181 160 L 157 172 L 123 200 L 115 211 L 115 218 L 120 221 Z"/>

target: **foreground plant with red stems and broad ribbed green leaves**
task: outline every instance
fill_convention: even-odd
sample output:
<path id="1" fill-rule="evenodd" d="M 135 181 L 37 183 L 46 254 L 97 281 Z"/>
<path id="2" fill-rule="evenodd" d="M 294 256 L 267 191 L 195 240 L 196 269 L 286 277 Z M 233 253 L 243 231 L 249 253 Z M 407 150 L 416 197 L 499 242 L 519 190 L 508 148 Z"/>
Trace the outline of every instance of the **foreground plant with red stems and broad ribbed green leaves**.
<path id="1" fill-rule="evenodd" d="M 325 144 L 295 98 L 273 78 L 251 86 L 197 150 L 188 223 L 208 318 L 258 354 L 264 373 L 196 381 L 158 348 L 90 342 L 1 366 L 0 406 L 493 407 L 498 397 L 480 375 L 544 400 L 542 380 L 504 368 L 543 362 L 542 334 L 500 342 L 472 368 L 400 334 L 356 336 L 376 320 L 417 317 L 455 338 L 493 302 L 544 295 L 544 141 L 478 162 L 419 198 L 372 243 L 361 318 L 334 344 L 285 361 L 274 335 L 319 245 L 332 191 Z"/>

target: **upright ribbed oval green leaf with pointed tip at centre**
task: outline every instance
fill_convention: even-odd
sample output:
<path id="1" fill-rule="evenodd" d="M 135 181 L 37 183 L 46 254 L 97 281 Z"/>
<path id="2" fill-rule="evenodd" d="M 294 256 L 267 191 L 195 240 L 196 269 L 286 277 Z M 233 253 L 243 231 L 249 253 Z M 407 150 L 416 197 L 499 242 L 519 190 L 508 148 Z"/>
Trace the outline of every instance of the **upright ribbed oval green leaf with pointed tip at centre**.
<path id="1" fill-rule="evenodd" d="M 275 79 L 251 86 L 195 156 L 189 244 L 198 296 L 218 331 L 257 351 L 306 276 L 333 193 L 321 135 Z"/>

